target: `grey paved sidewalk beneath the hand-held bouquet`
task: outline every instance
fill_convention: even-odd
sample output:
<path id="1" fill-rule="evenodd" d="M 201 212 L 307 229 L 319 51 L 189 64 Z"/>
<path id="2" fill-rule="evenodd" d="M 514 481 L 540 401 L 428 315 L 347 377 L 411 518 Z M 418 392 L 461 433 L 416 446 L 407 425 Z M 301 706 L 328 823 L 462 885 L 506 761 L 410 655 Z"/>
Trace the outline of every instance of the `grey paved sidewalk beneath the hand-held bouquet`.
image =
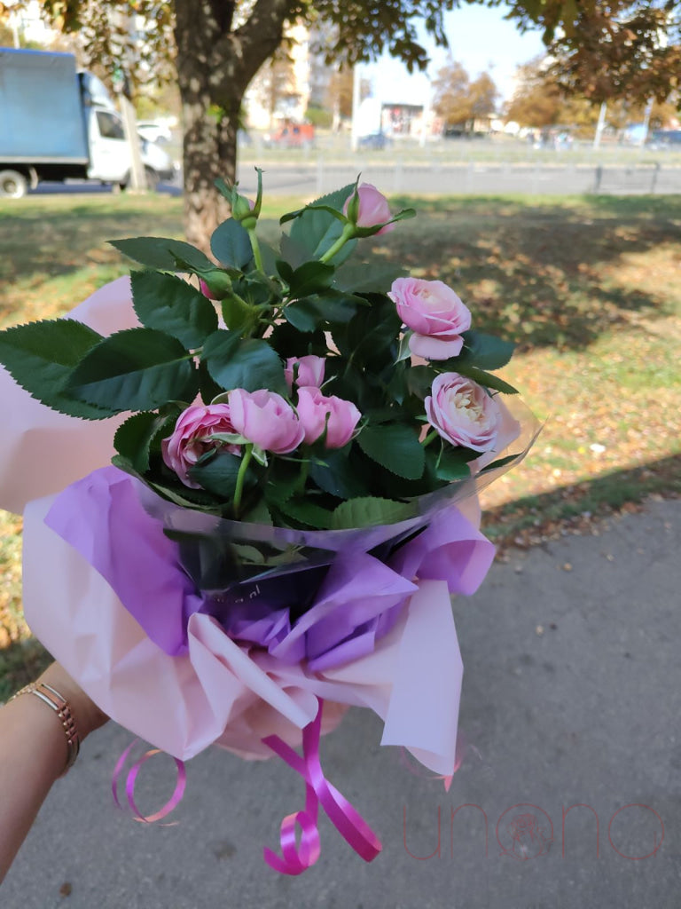
<path id="1" fill-rule="evenodd" d="M 449 793 L 380 748 L 368 711 L 322 744 L 327 776 L 380 834 L 373 864 L 324 821 L 318 864 L 299 878 L 272 872 L 262 845 L 276 846 L 281 818 L 302 806 L 301 781 L 279 761 L 217 750 L 188 764 L 180 824 L 134 824 L 111 806 L 129 735 L 110 726 L 55 786 L 0 906 L 676 909 L 680 566 L 681 501 L 659 502 L 598 536 L 511 553 L 456 600 L 468 749 Z M 141 777 L 147 810 L 172 788 L 172 764 L 156 761 Z M 462 804 L 475 807 L 452 824 Z"/>

